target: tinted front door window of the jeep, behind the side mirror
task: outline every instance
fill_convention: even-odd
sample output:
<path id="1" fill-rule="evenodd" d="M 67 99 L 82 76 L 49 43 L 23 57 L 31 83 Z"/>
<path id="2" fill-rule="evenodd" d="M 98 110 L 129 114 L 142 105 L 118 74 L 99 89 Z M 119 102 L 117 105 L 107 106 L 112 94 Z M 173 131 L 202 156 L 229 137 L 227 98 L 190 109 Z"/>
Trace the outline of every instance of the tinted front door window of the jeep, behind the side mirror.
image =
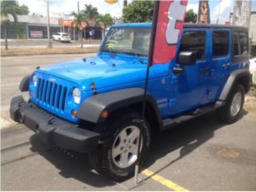
<path id="1" fill-rule="evenodd" d="M 188 31 L 183 33 L 179 53 L 195 51 L 198 60 L 205 59 L 205 31 Z"/>

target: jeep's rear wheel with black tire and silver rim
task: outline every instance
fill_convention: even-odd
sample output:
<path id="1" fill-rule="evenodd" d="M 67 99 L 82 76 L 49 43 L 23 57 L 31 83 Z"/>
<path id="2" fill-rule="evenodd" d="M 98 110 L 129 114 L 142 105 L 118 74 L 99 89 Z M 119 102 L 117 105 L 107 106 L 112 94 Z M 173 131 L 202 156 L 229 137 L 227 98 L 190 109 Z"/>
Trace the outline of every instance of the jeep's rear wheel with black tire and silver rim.
<path id="1" fill-rule="evenodd" d="M 237 84 L 231 91 L 227 103 L 217 110 L 217 114 L 225 123 L 234 123 L 240 116 L 244 105 L 244 87 Z"/>

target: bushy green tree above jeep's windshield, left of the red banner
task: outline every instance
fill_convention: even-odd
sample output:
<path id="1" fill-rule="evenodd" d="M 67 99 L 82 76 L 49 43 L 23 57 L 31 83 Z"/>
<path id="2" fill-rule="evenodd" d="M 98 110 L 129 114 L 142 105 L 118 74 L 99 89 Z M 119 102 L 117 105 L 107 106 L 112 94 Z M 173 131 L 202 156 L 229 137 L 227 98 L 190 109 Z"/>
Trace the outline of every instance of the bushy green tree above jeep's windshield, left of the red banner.
<path id="1" fill-rule="evenodd" d="M 133 1 L 123 8 L 123 22 L 152 22 L 154 4 L 154 1 Z"/>

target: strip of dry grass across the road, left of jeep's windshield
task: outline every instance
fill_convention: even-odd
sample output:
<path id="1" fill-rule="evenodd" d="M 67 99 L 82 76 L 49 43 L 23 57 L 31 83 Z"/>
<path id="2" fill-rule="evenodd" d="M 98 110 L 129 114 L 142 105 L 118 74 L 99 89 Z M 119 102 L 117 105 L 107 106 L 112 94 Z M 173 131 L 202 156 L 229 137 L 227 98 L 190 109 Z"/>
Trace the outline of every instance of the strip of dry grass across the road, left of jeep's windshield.
<path id="1" fill-rule="evenodd" d="M 54 47 L 54 48 L 11 48 L 1 49 L 2 56 L 12 55 L 41 55 L 41 54 L 65 54 L 65 53 L 95 53 L 98 47 L 79 48 L 79 47 Z"/>

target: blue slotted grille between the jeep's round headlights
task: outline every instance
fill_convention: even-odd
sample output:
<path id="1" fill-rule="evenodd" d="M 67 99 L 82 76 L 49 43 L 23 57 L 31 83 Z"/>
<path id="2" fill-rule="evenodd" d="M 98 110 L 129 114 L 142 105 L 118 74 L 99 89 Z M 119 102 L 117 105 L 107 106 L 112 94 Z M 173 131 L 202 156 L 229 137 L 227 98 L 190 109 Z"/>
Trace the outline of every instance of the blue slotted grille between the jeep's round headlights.
<path id="1" fill-rule="evenodd" d="M 64 111 L 67 87 L 45 79 L 38 79 L 36 98 L 54 108 Z"/>

